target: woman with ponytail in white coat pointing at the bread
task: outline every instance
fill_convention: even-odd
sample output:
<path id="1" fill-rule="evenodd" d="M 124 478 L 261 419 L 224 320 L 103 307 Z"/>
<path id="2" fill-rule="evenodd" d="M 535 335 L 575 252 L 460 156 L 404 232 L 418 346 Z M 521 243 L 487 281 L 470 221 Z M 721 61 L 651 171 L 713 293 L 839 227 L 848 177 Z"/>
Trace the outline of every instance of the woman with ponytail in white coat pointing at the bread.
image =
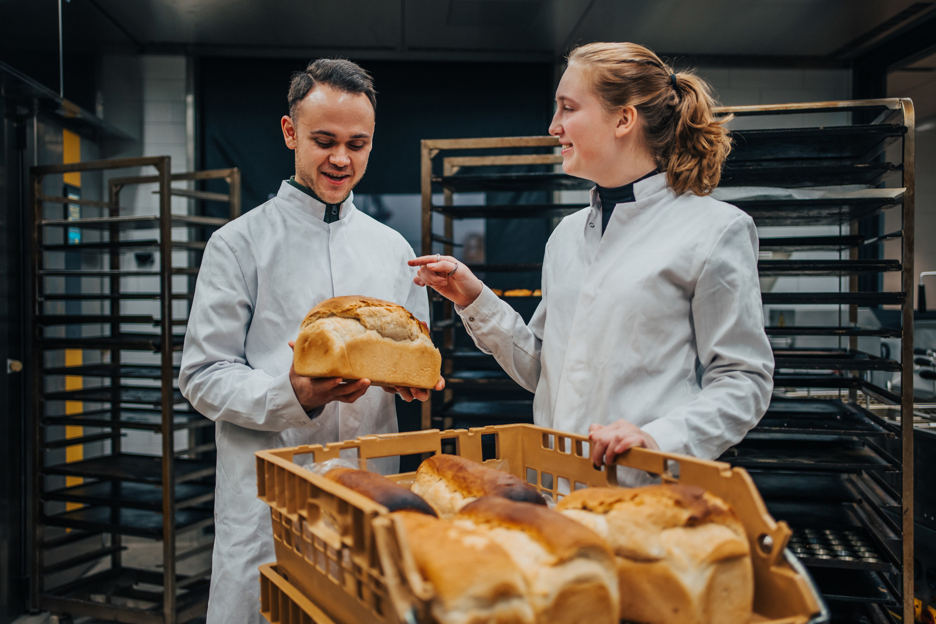
<path id="1" fill-rule="evenodd" d="M 416 283 L 456 304 L 475 344 L 535 391 L 534 422 L 714 458 L 767 410 L 773 355 L 747 214 L 707 195 L 730 138 L 703 80 L 633 43 L 573 51 L 549 134 L 591 206 L 555 229 L 529 325 L 471 270 L 422 256 Z"/>

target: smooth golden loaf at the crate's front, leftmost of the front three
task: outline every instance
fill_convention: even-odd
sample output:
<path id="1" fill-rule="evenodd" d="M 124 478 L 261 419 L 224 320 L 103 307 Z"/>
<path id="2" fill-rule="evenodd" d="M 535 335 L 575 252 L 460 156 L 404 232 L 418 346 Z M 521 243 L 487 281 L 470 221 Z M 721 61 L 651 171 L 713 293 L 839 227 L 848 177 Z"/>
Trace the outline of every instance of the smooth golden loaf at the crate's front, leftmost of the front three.
<path id="1" fill-rule="evenodd" d="M 439 624 L 533 624 L 523 576 L 504 549 L 475 530 L 431 515 L 395 512 Z"/>

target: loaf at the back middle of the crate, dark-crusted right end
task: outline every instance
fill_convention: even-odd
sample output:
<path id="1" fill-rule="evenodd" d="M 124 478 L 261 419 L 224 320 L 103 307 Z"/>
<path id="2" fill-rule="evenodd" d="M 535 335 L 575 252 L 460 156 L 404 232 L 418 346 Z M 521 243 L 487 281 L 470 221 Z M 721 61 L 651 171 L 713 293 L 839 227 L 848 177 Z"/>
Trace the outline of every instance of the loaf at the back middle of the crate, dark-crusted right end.
<path id="1" fill-rule="evenodd" d="M 419 464 L 412 490 L 444 518 L 452 517 L 482 496 L 546 505 L 536 488 L 519 477 L 457 455 L 433 455 L 424 460 Z"/>

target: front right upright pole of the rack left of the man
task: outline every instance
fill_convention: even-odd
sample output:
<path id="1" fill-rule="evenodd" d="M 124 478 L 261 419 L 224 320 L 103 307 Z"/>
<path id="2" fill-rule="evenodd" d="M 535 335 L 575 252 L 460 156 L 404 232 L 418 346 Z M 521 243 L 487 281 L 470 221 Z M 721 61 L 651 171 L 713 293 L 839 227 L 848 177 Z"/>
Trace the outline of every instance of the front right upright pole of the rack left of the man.
<path id="1" fill-rule="evenodd" d="M 161 406 L 163 436 L 163 621 L 176 624 L 175 444 L 172 414 L 172 184 L 171 159 L 159 172 L 159 302 L 162 329 Z"/>

